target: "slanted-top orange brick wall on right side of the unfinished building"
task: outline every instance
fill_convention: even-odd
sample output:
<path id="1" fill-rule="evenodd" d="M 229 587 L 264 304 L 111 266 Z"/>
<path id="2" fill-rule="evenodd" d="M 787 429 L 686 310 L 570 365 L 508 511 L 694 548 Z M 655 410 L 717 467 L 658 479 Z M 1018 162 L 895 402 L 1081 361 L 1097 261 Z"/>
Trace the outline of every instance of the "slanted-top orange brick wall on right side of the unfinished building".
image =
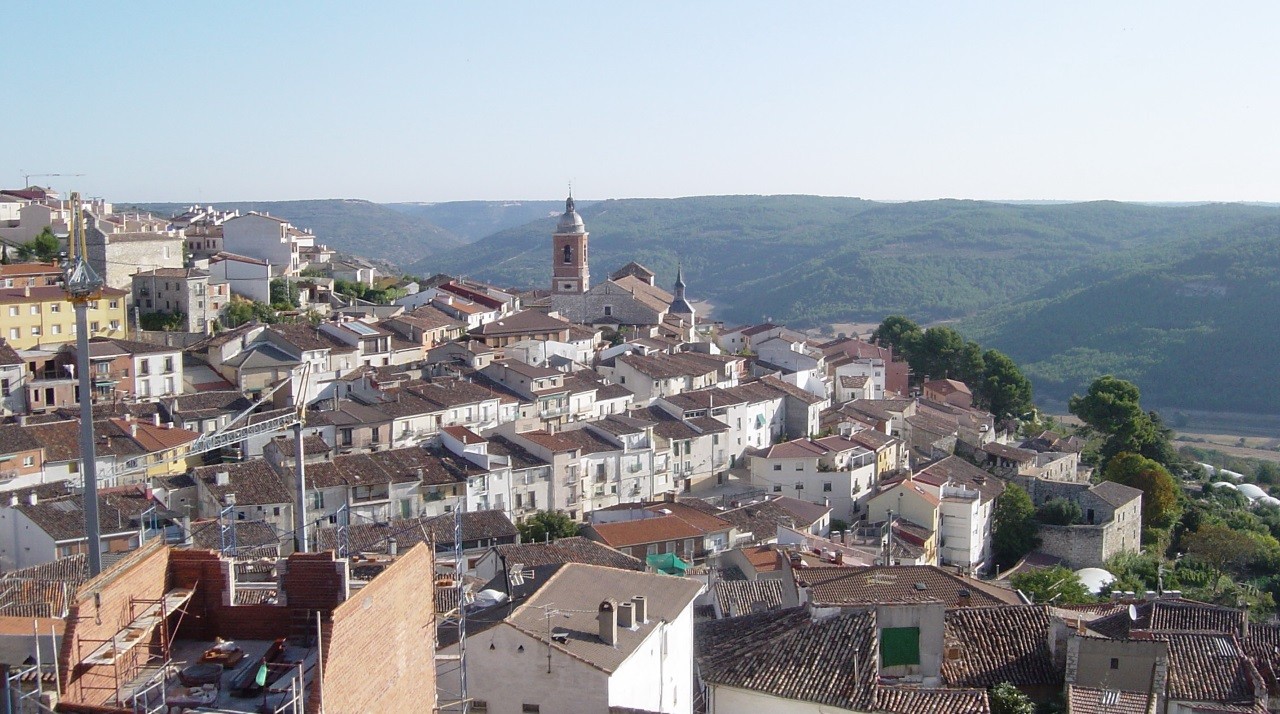
<path id="1" fill-rule="evenodd" d="M 435 709 L 433 555 L 415 545 L 333 612 L 324 631 L 324 678 L 306 710 Z"/>

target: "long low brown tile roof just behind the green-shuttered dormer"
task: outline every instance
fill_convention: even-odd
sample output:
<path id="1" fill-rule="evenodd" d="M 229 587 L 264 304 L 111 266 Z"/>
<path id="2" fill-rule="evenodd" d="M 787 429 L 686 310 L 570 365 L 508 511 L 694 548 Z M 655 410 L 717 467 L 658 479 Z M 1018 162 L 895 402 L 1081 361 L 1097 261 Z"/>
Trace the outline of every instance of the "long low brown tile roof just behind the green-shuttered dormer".
<path id="1" fill-rule="evenodd" d="M 1018 603 L 1018 595 L 951 575 L 934 566 L 817 567 L 796 571 L 809 583 L 810 599 L 820 604 L 960 603 L 968 590 L 975 607 Z M 918 585 L 923 585 L 920 589 Z"/>

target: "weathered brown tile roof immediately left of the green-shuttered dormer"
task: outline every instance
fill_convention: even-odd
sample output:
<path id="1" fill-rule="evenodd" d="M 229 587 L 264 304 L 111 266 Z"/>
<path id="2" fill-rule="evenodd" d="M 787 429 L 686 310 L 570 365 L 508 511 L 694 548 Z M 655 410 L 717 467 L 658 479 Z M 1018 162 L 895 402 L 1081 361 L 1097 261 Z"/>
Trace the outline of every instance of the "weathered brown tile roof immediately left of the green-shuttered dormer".
<path id="1" fill-rule="evenodd" d="M 874 696 L 874 615 L 814 622 L 791 608 L 695 624 L 695 656 L 712 685 L 865 711 Z"/>

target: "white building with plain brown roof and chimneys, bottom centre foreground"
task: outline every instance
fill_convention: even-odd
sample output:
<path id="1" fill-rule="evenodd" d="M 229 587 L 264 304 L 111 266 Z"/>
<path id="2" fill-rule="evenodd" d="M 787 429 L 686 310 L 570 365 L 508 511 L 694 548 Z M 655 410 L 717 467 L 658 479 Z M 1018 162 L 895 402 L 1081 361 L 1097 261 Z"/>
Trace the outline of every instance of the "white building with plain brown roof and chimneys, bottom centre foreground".
<path id="1" fill-rule="evenodd" d="M 526 581 L 535 591 L 522 604 L 503 601 L 471 615 L 472 711 L 692 711 L 694 599 L 701 583 L 581 563 L 544 577 Z M 442 646 L 442 654 L 456 651 L 456 644 Z M 442 701 L 456 695 L 456 673 L 442 670 L 438 687 Z"/>

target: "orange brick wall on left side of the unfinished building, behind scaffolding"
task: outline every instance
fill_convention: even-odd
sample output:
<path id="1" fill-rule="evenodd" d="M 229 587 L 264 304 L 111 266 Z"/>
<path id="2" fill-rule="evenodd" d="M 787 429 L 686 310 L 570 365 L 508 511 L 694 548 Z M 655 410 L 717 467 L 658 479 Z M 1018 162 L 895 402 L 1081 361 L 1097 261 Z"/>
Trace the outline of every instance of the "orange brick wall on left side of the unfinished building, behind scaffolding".
<path id="1" fill-rule="evenodd" d="M 109 665 L 84 665 L 81 659 L 108 640 L 129 619 L 129 599 L 160 599 L 168 590 L 169 548 L 152 540 L 123 560 L 79 587 L 67 618 L 67 633 L 59 655 L 63 672 L 63 699 L 83 704 L 114 700 L 115 676 Z M 155 637 L 156 635 L 152 635 Z M 142 654 L 138 644 L 129 653 Z"/>

